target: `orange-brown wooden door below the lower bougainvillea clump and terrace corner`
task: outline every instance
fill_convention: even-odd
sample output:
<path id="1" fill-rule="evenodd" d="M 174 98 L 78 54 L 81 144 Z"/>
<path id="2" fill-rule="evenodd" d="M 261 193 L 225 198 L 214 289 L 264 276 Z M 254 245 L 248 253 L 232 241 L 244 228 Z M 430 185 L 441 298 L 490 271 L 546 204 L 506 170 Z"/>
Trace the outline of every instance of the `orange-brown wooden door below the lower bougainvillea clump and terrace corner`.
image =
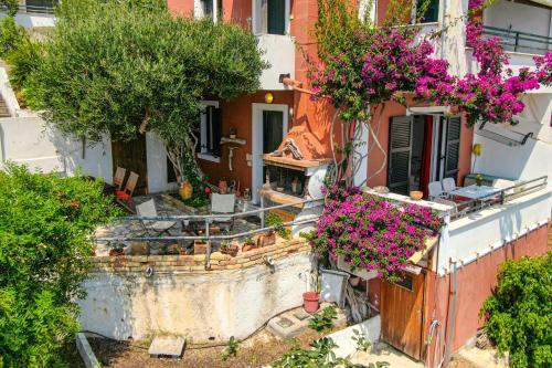
<path id="1" fill-rule="evenodd" d="M 397 283 L 382 283 L 381 335 L 396 349 L 421 359 L 425 274 L 404 274 Z"/>

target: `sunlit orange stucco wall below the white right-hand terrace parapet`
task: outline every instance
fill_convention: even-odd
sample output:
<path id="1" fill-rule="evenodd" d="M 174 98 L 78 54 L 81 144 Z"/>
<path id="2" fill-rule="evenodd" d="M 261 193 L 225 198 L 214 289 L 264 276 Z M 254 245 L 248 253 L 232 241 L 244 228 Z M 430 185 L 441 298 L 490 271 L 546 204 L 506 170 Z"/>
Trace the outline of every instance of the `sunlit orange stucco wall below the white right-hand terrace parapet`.
<path id="1" fill-rule="evenodd" d="M 458 269 L 453 353 L 466 345 L 482 326 L 485 320 L 479 317 L 479 311 L 484 301 L 491 295 L 497 285 L 498 266 L 506 260 L 544 254 L 548 251 L 549 225 L 542 225 L 514 242 Z M 445 335 L 448 335 L 449 323 L 447 320 L 452 318 L 452 285 L 450 274 L 444 277 L 433 272 L 427 274 L 425 308 L 427 324 L 424 340 L 427 338 L 433 319 L 438 319 L 443 324 Z M 433 353 L 429 356 L 433 357 Z"/>

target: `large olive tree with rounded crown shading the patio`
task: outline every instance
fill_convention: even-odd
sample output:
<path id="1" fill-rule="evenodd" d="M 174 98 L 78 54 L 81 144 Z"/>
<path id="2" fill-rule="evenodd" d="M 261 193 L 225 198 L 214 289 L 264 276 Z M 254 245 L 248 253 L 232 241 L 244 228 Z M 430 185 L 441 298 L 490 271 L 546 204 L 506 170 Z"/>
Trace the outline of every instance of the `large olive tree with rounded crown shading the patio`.
<path id="1" fill-rule="evenodd" d="M 179 180 L 199 175 L 204 98 L 253 93 L 267 64 L 235 24 L 176 18 L 162 1 L 66 0 L 24 95 L 62 132 L 94 141 L 155 132 Z"/>

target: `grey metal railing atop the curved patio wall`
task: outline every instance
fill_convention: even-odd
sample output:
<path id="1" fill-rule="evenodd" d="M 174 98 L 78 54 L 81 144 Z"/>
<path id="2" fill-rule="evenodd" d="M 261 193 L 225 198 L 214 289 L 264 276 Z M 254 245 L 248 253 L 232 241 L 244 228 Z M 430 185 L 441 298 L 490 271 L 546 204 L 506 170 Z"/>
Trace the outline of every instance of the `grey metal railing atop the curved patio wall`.
<path id="1" fill-rule="evenodd" d="M 263 203 L 263 202 L 262 202 Z M 238 240 L 243 238 L 247 238 L 257 233 L 266 232 L 266 231 L 274 231 L 278 230 L 280 227 L 293 227 L 293 225 L 301 225 L 301 224 L 308 224 L 312 222 L 318 221 L 318 215 L 312 215 L 311 218 L 306 218 L 302 220 L 298 221 L 288 221 L 284 222 L 280 225 L 277 227 L 265 227 L 264 223 L 264 218 L 265 213 L 267 211 L 272 210 L 278 210 L 278 209 L 285 209 L 289 207 L 298 207 L 302 206 L 309 206 L 309 208 L 316 208 L 318 206 L 323 204 L 323 199 L 305 199 L 305 200 L 298 200 L 293 203 L 286 203 L 286 204 L 277 204 L 277 206 L 272 206 L 272 207 L 262 207 L 259 209 L 251 210 L 251 211 L 243 211 L 243 212 L 235 212 L 235 213 L 219 213 L 219 214 L 177 214 L 177 215 L 158 215 L 158 217 L 137 217 L 137 215 L 129 215 L 125 218 L 119 218 L 117 219 L 118 221 L 181 221 L 182 223 L 184 222 L 203 222 L 204 224 L 204 234 L 202 235 L 168 235 L 168 236 L 98 236 L 95 238 L 94 240 L 96 242 L 132 242 L 132 241 L 156 241 L 156 242 L 169 242 L 169 241 L 195 241 L 195 240 L 202 240 L 206 241 L 208 248 L 206 248 L 206 253 L 205 253 L 205 269 L 210 269 L 211 266 L 211 253 L 212 253 L 212 243 L 214 241 L 231 241 L 231 240 Z M 244 218 L 244 217 L 251 217 L 251 215 L 258 215 L 261 218 L 261 227 L 259 229 L 253 229 L 248 230 L 245 232 L 240 232 L 240 233 L 231 233 L 231 234 L 217 234 L 217 235 L 211 235 L 211 224 L 215 223 L 216 220 L 220 220 L 221 218 L 224 220 L 232 219 L 235 220 L 237 218 Z"/>

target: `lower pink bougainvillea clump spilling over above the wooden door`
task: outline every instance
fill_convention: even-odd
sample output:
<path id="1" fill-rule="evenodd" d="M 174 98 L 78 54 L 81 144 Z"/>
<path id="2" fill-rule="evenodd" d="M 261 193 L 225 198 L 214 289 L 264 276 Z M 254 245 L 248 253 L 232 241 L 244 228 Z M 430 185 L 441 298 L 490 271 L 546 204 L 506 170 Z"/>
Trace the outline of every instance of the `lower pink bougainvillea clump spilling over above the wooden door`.
<path id="1" fill-rule="evenodd" d="M 327 196 L 312 242 L 318 254 L 343 255 L 348 264 L 393 281 L 442 225 L 428 208 L 399 207 L 359 188 L 336 186 Z"/>

